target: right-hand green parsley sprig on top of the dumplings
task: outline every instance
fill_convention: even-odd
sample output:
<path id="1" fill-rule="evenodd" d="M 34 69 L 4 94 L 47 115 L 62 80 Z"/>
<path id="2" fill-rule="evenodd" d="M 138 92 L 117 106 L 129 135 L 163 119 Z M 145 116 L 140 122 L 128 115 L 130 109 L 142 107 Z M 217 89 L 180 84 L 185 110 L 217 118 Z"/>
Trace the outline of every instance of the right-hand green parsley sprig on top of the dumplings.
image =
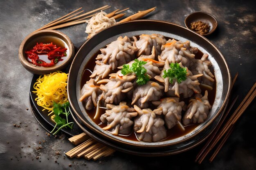
<path id="1" fill-rule="evenodd" d="M 164 70 L 163 77 L 169 78 L 169 82 L 173 83 L 173 79 L 177 79 L 177 82 L 180 84 L 182 81 L 186 80 L 186 68 L 181 68 L 180 64 L 178 63 L 171 63 L 170 64 L 171 69 L 168 69 L 167 71 Z"/>

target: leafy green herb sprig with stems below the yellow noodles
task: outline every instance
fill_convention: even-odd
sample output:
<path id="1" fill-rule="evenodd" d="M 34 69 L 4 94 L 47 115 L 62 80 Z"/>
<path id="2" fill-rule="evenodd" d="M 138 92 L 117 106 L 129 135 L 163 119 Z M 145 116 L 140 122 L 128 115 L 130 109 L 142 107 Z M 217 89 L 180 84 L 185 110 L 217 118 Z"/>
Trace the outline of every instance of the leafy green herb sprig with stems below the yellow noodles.
<path id="1" fill-rule="evenodd" d="M 70 114 L 70 110 L 67 112 L 67 108 L 69 108 L 69 106 L 70 106 L 69 102 L 66 102 L 64 104 L 57 104 L 56 102 L 54 102 L 53 112 L 55 117 L 53 119 L 56 122 L 56 125 L 54 126 L 54 129 L 52 130 L 52 132 L 54 132 L 57 126 L 60 126 L 60 127 L 58 128 L 58 130 L 56 130 L 56 132 L 53 133 L 53 135 L 56 135 L 58 131 L 60 131 L 62 128 L 66 126 L 71 129 L 73 128 L 74 122 L 68 122 L 67 120 L 67 117 Z M 62 118 L 61 115 L 65 115 L 65 118 Z"/>

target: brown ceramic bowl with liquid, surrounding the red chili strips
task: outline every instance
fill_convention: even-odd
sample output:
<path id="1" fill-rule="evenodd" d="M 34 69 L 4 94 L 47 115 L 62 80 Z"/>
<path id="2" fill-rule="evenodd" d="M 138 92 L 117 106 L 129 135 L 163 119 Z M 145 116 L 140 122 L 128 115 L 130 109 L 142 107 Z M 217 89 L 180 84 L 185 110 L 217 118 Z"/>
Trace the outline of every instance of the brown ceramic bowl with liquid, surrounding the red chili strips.
<path id="1" fill-rule="evenodd" d="M 61 57 L 63 61 L 59 61 L 54 66 L 49 67 L 43 67 L 43 66 L 35 66 L 32 64 L 30 59 L 26 56 L 25 51 L 29 51 L 33 49 L 33 47 L 36 45 L 36 43 L 43 42 L 44 44 L 47 43 L 53 43 L 56 44 L 58 47 L 61 48 L 67 48 L 67 56 Z M 40 58 L 40 55 L 38 55 Z M 44 60 L 45 62 L 49 63 L 50 60 L 47 59 L 47 55 L 42 56 L 43 58 L 40 58 Z M 49 74 L 54 71 L 59 71 L 67 67 L 67 65 L 73 60 L 74 57 L 74 46 L 68 38 L 67 35 L 60 31 L 55 30 L 41 30 L 37 31 L 35 33 L 29 34 L 20 44 L 19 49 L 19 59 L 21 64 L 27 69 L 27 71 L 38 74 L 38 75 L 44 75 Z"/>

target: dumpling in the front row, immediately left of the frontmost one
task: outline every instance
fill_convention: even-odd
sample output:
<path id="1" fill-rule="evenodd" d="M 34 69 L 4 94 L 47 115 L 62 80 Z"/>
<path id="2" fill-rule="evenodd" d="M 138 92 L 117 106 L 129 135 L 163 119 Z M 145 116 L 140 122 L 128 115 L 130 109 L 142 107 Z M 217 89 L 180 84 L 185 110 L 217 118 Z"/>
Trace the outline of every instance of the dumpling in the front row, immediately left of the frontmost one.
<path id="1" fill-rule="evenodd" d="M 135 109 L 129 108 L 126 102 L 121 102 L 119 106 L 107 104 L 106 108 L 108 110 L 100 119 L 102 123 L 108 122 L 108 126 L 102 129 L 109 130 L 113 135 L 129 135 L 133 125 L 132 117 L 138 114 Z"/>

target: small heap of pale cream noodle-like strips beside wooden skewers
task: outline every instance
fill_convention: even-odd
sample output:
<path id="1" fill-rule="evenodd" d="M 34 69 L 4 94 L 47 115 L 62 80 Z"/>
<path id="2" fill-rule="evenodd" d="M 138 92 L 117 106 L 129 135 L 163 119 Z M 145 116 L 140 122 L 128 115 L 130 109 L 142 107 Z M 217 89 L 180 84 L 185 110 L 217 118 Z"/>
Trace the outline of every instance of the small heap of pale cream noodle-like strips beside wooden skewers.
<path id="1" fill-rule="evenodd" d="M 88 33 L 88 37 L 92 37 L 100 30 L 116 24 L 114 18 L 108 18 L 106 15 L 106 12 L 101 11 L 87 21 L 88 25 L 86 26 L 85 33 Z"/>

